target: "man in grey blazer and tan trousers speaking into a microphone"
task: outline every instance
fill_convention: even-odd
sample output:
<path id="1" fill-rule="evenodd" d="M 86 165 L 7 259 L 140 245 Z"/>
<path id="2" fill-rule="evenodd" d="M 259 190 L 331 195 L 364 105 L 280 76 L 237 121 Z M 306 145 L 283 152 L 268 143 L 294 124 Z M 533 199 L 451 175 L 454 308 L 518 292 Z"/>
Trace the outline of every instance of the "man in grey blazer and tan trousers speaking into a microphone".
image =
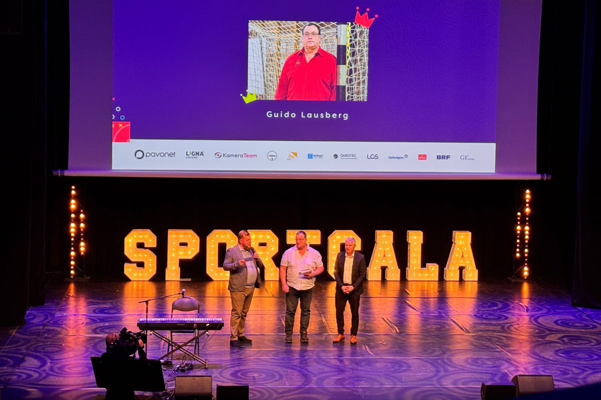
<path id="1" fill-rule="evenodd" d="M 238 244 L 225 251 L 224 259 L 224 269 L 230 271 L 230 345 L 233 347 L 252 345 L 252 340 L 244 335 L 244 323 L 255 287 L 261 287 L 260 267 L 263 267 L 263 263 L 251 247 L 251 234 L 241 230 Z"/>

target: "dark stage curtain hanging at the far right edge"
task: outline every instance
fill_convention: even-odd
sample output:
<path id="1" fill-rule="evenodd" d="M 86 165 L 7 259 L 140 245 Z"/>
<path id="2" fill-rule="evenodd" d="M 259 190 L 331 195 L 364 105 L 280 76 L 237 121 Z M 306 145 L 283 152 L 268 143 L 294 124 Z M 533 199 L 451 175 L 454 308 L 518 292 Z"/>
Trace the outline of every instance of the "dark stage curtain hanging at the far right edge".
<path id="1" fill-rule="evenodd" d="M 584 52 L 582 62 L 581 114 L 579 130 L 579 168 L 576 206 L 576 257 L 572 303 L 601 308 L 601 148 L 599 133 L 599 38 L 596 22 L 599 5 L 586 2 Z"/>

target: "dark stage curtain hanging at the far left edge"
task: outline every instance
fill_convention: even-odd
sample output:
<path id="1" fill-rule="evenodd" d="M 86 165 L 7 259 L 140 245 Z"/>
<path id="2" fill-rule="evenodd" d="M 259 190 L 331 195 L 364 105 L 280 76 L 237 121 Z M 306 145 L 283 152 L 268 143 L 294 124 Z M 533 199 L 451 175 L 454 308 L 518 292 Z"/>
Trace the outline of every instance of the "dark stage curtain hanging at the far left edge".
<path id="1" fill-rule="evenodd" d="M 46 4 L 8 2 L 0 33 L 5 178 L 0 324 L 25 323 L 44 303 L 46 268 Z"/>

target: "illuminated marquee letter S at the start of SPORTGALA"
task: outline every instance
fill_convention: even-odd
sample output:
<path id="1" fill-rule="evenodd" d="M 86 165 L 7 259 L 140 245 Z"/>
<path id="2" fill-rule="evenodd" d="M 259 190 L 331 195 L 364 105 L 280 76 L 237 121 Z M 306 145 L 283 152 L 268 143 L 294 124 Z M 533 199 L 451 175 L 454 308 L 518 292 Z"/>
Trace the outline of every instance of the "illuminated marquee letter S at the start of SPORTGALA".
<path id="1" fill-rule="evenodd" d="M 125 263 L 123 272 L 132 281 L 148 281 L 156 273 L 156 255 L 149 249 L 138 248 L 138 243 L 144 247 L 156 247 L 156 235 L 150 229 L 134 229 L 125 237 L 124 252 L 130 261 L 141 261 L 144 266 Z"/>

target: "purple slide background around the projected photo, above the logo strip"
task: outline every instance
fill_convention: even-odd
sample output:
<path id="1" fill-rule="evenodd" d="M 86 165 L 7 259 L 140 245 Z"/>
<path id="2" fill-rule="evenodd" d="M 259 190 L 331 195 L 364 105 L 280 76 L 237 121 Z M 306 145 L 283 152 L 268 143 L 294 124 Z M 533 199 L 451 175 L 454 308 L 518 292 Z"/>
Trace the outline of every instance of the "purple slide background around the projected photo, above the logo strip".
<path id="1" fill-rule="evenodd" d="M 132 139 L 495 142 L 498 1 L 371 1 L 366 102 L 244 103 L 249 20 L 353 22 L 358 5 L 117 1 L 114 106 Z"/>

